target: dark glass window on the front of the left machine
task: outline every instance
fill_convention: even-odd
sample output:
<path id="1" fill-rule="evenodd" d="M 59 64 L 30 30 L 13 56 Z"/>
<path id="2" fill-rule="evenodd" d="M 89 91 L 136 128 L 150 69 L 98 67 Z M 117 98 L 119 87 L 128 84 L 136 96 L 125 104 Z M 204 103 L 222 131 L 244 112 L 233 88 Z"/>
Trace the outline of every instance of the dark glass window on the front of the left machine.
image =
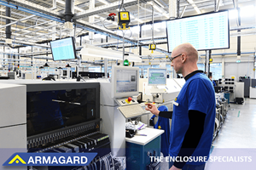
<path id="1" fill-rule="evenodd" d="M 27 92 L 27 136 L 96 119 L 96 89 Z"/>

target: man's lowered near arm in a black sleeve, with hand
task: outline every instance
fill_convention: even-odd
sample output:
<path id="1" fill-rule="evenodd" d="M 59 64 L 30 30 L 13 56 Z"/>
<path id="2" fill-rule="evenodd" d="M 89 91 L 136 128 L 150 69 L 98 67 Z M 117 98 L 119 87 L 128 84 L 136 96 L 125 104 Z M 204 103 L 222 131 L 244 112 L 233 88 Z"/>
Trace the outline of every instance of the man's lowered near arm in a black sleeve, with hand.
<path id="1" fill-rule="evenodd" d="M 197 145 L 200 142 L 201 135 L 204 132 L 206 114 L 201 111 L 189 111 L 189 128 L 183 139 L 181 150 L 177 154 L 178 157 L 183 159 L 184 156 L 192 156 Z M 173 166 L 182 169 L 186 164 L 184 161 L 175 161 Z M 172 166 L 171 169 L 175 169 Z"/>

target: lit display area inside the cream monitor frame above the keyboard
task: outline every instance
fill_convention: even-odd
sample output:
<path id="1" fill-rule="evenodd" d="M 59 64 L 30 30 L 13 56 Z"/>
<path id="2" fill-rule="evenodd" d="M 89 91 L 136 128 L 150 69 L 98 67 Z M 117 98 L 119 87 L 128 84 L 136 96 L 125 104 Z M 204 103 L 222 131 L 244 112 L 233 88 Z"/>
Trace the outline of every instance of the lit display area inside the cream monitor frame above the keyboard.
<path id="1" fill-rule="evenodd" d="M 116 71 L 116 93 L 137 92 L 137 70 Z"/>

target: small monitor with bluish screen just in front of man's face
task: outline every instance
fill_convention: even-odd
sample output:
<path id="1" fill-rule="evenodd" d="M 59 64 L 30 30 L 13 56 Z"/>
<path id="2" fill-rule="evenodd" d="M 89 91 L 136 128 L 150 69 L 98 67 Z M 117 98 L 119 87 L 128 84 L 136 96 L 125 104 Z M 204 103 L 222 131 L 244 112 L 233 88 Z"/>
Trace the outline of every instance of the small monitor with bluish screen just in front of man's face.
<path id="1" fill-rule="evenodd" d="M 166 85 L 166 69 L 148 68 L 148 86 Z"/>

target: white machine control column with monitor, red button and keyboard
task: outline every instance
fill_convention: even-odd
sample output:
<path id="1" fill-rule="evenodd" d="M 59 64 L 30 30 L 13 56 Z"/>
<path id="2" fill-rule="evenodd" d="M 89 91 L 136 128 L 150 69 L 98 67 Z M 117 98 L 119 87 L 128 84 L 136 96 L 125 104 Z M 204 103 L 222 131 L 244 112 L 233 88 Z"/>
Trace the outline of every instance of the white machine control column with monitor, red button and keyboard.
<path id="1" fill-rule="evenodd" d="M 139 68 L 113 66 L 111 82 L 101 82 L 102 132 L 108 133 L 113 156 L 125 156 L 125 122 L 150 113 L 137 102 Z"/>

